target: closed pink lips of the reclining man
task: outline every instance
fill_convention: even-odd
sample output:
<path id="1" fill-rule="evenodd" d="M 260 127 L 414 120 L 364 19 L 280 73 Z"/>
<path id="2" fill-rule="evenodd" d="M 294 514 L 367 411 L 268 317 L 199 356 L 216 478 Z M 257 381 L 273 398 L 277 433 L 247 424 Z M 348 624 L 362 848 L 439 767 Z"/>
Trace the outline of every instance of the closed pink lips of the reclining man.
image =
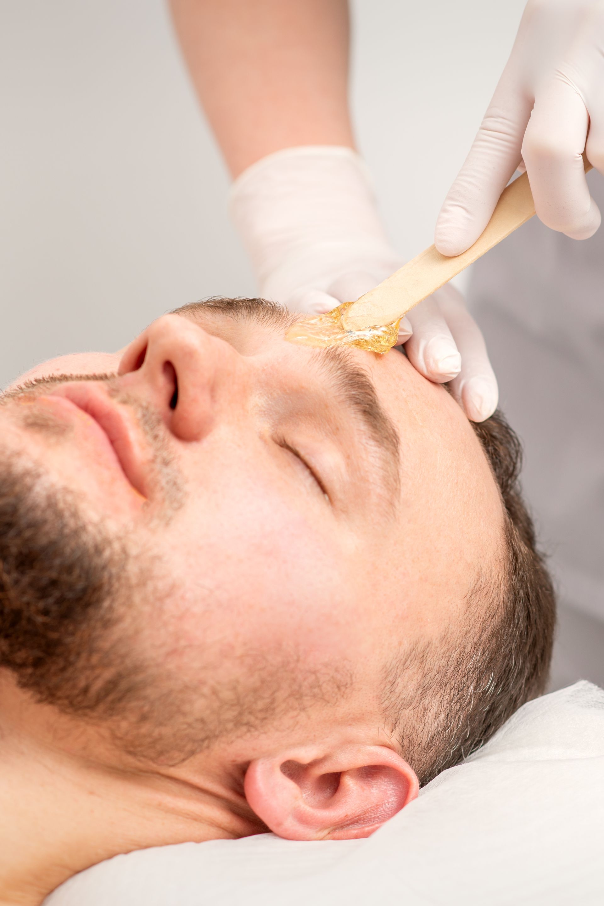
<path id="1" fill-rule="evenodd" d="M 96 422 L 130 485 L 140 495 L 149 497 L 149 456 L 141 444 L 139 429 L 128 412 L 111 400 L 100 384 L 92 381 L 60 384 L 48 396 L 69 400 Z"/>

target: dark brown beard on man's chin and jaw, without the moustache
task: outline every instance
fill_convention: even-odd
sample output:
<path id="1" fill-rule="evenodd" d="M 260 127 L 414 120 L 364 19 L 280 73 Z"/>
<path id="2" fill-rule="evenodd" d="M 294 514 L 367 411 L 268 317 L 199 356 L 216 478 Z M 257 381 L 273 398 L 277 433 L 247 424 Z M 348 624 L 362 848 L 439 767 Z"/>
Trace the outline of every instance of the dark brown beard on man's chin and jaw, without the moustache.
<path id="1" fill-rule="evenodd" d="M 221 726 L 210 709 L 191 736 L 186 684 L 168 675 L 158 646 L 140 643 L 169 601 L 153 559 L 87 524 L 75 496 L 0 449 L 0 670 L 121 751 L 176 764 Z"/>

